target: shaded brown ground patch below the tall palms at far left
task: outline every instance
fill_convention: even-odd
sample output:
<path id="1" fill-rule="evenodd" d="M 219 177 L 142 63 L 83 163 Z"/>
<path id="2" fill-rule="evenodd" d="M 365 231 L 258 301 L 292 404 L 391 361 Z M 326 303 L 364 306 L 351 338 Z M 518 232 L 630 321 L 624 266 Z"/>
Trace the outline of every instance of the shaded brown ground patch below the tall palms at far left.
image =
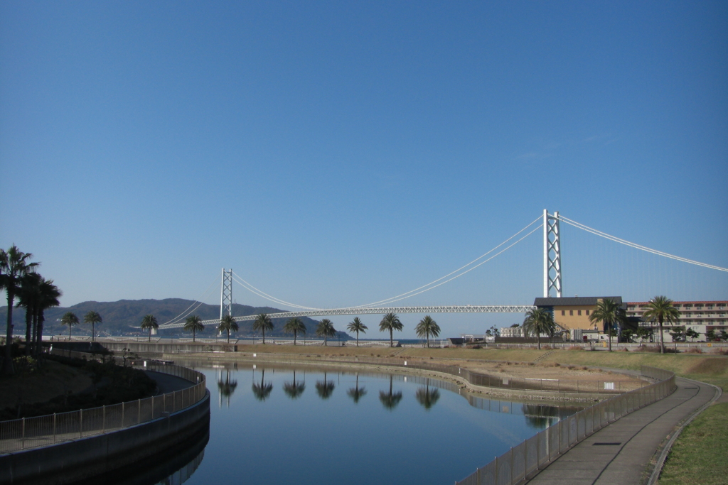
<path id="1" fill-rule="evenodd" d="M 92 380 L 74 367 L 55 361 L 17 380 L 0 380 L 0 409 L 22 403 L 49 401 L 64 393 L 79 393 L 92 385 Z"/>

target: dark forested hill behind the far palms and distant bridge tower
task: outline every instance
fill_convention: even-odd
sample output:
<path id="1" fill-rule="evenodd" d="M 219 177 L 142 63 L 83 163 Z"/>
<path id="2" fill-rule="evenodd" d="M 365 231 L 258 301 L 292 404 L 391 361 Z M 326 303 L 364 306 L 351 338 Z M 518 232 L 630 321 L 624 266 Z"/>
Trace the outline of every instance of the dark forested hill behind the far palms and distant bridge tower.
<path id="1" fill-rule="evenodd" d="M 90 311 L 98 311 L 101 318 L 103 318 L 103 324 L 96 326 L 97 334 L 101 335 L 138 335 L 140 330 L 132 328 L 133 326 L 139 326 L 143 316 L 151 314 L 157 317 L 159 324 L 164 324 L 170 321 L 172 318 L 177 317 L 182 313 L 186 313 L 188 308 L 191 310 L 191 305 L 194 302 L 191 300 L 182 300 L 181 298 L 167 298 L 165 300 L 119 300 L 117 302 L 82 302 L 77 305 L 73 305 L 68 308 L 58 307 L 49 308 L 45 312 L 45 328 L 44 334 L 68 334 L 68 327 L 60 324 L 60 318 L 63 313 L 71 311 L 79 317 L 79 321 L 83 321 L 84 315 Z M 195 304 L 196 305 L 196 304 Z M 194 307 L 192 307 L 194 308 Z M 188 310 L 189 311 L 189 310 Z M 233 316 L 247 316 L 247 315 L 258 315 L 258 313 L 280 313 L 282 310 L 271 307 L 251 307 L 248 305 L 238 305 L 237 303 L 232 305 Z M 220 306 L 219 305 L 207 305 L 203 303 L 194 310 L 194 315 L 199 316 L 202 320 L 212 320 L 220 318 Z M 15 324 L 15 334 L 23 334 L 25 332 L 25 309 L 14 308 L 12 312 L 13 324 Z M 7 321 L 7 306 L 0 307 L 0 324 L 4 328 L 4 322 Z M 286 318 L 275 318 L 273 320 L 274 329 L 273 332 L 266 332 L 266 337 L 284 337 L 288 336 L 283 332 L 283 325 L 285 325 Z M 318 321 L 312 320 L 312 318 L 301 317 L 301 321 L 306 324 L 306 336 L 312 337 L 316 332 L 316 325 Z M 257 335 L 253 333 L 252 326 L 253 321 L 241 321 L 240 332 L 237 332 L 238 337 L 247 337 Z M 91 334 L 90 324 L 79 324 L 74 326 L 74 334 Z M 173 336 L 184 334 L 182 329 L 170 329 L 160 331 L 159 335 L 162 337 Z M 201 336 L 213 335 L 212 329 L 205 329 Z M 350 337 L 345 332 L 339 332 L 335 340 L 341 338 L 342 340 L 348 340 Z"/>

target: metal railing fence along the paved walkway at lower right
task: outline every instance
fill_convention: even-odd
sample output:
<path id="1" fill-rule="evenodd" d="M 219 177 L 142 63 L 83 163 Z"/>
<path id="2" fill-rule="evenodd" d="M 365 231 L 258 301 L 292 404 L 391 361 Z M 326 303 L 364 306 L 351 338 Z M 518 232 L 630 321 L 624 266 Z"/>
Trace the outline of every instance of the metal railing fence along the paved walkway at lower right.
<path id="1" fill-rule="evenodd" d="M 668 396 L 675 389 L 673 372 L 649 366 L 642 366 L 641 372 L 645 377 L 659 381 L 601 401 L 551 425 L 478 468 L 456 485 L 518 484 L 587 436 L 625 414 Z"/>

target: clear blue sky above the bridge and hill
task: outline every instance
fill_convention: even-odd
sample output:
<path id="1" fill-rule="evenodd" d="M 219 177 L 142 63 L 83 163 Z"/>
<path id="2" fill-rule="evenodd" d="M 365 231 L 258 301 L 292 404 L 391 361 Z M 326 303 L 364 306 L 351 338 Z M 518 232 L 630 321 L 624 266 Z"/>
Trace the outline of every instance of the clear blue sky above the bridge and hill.
<path id="1" fill-rule="evenodd" d="M 196 299 L 223 266 L 359 305 L 546 208 L 725 268 L 726 25 L 718 1 L 3 1 L 0 244 L 63 305 Z M 728 297 L 726 273 L 563 238 L 565 294 Z M 540 244 L 400 303 L 529 303 Z"/>

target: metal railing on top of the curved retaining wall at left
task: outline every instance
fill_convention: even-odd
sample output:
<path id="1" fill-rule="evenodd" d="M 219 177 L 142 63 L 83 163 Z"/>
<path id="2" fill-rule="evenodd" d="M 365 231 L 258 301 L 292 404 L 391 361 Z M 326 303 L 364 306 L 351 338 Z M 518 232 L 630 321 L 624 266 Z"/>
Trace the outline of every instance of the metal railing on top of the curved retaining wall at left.
<path id="1" fill-rule="evenodd" d="M 2 421 L 0 453 L 47 446 L 140 425 L 181 411 L 205 397 L 205 374 L 201 372 L 181 366 L 149 363 L 141 368 L 181 377 L 192 382 L 192 385 L 171 393 L 110 406 Z"/>

